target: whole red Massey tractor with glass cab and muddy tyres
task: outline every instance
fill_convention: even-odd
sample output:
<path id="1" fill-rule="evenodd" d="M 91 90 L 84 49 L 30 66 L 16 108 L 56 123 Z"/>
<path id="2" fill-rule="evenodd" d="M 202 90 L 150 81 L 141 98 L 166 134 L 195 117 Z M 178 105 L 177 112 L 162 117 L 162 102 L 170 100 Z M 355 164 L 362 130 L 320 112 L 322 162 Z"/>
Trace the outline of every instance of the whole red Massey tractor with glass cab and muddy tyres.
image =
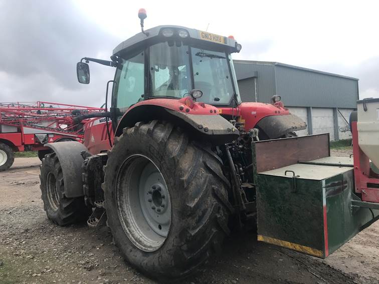
<path id="1" fill-rule="evenodd" d="M 84 144 L 48 144 L 41 190 L 59 225 L 106 223 L 129 263 L 154 278 L 182 277 L 256 215 L 251 142 L 294 136 L 306 124 L 274 96 L 242 103 L 232 37 L 178 26 L 118 45 L 111 107 L 84 126 Z M 84 61 L 84 62 L 83 62 Z M 106 99 L 107 101 L 107 99 Z M 106 106 L 107 108 L 107 106 Z"/>

